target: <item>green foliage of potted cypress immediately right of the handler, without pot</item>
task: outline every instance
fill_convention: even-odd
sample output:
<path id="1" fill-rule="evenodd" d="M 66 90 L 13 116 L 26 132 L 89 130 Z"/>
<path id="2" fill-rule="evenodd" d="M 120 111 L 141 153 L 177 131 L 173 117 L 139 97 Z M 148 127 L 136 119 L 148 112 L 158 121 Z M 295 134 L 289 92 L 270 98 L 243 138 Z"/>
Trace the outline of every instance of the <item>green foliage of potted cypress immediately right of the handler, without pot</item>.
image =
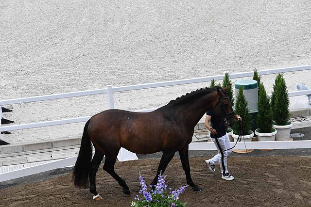
<path id="1" fill-rule="evenodd" d="M 243 94 L 242 86 L 239 88 L 237 100 L 235 102 L 235 113 L 239 114 L 242 117 L 242 135 L 249 135 L 253 120 L 247 107 L 247 100 L 245 95 Z M 238 121 L 234 123 L 233 130 L 235 134 L 240 134 Z"/>

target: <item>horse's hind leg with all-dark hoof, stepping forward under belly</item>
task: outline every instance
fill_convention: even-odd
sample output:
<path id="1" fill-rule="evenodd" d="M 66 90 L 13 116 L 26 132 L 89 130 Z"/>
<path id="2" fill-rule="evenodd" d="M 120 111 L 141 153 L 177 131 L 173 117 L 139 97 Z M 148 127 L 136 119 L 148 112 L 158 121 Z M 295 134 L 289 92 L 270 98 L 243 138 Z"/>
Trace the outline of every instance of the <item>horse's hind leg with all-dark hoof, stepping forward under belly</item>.
<path id="1" fill-rule="evenodd" d="M 116 160 L 117 160 L 117 154 L 113 155 L 113 156 L 106 155 L 103 170 L 106 171 L 107 173 L 109 173 L 113 178 L 115 178 L 117 180 L 119 185 L 122 187 L 122 191 L 126 195 L 130 195 L 130 189 L 126 185 L 125 181 L 118 174 L 116 174 L 116 172 L 114 170 Z"/>

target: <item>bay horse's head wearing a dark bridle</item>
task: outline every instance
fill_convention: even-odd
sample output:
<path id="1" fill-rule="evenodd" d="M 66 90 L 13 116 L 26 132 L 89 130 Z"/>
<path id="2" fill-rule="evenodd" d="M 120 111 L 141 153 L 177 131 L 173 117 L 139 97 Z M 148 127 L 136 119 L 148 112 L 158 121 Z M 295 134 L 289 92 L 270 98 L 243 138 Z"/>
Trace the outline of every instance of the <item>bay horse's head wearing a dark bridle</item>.
<path id="1" fill-rule="evenodd" d="M 214 115 L 217 115 L 222 118 L 223 122 L 225 123 L 225 127 L 227 127 L 228 125 L 232 127 L 235 118 L 231 102 L 229 100 L 228 95 L 225 92 L 227 90 L 227 87 L 225 87 L 224 89 L 222 89 L 221 87 L 217 87 L 216 89 L 218 93 L 218 103 L 216 104 L 213 110 Z"/>

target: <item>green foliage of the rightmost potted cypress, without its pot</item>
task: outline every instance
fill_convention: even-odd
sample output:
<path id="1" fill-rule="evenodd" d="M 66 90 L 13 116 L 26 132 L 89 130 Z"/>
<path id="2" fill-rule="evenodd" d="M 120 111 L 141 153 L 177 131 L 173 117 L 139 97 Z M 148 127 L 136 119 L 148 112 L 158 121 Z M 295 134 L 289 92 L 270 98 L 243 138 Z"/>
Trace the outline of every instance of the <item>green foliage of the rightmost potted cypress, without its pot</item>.
<path id="1" fill-rule="evenodd" d="M 288 97 L 285 79 L 282 73 L 278 73 L 276 76 L 271 96 L 271 105 L 273 111 L 273 120 L 275 121 L 276 125 L 287 125 L 287 122 L 290 118 L 290 100 Z"/>

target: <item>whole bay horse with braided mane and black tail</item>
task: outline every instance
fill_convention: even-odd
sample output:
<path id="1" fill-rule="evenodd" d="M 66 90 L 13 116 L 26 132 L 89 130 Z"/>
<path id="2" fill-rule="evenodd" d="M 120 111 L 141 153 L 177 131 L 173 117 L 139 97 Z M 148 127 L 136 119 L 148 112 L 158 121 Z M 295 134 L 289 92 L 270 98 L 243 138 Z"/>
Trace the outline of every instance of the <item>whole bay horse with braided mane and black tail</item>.
<path id="1" fill-rule="evenodd" d="M 186 181 L 193 191 L 201 191 L 190 176 L 189 144 L 195 125 L 207 110 L 234 122 L 234 111 L 221 87 L 202 88 L 170 101 L 152 112 L 131 112 L 117 109 L 102 111 L 92 116 L 84 127 L 81 147 L 73 168 L 74 185 L 87 188 L 94 200 L 103 199 L 96 191 L 96 173 L 101 161 L 103 170 L 117 180 L 122 191 L 130 194 L 125 181 L 116 174 L 114 166 L 121 147 L 137 154 L 162 151 L 162 158 L 151 185 L 164 173 L 175 152 L 178 151 Z M 91 142 L 95 148 L 92 159 Z"/>

